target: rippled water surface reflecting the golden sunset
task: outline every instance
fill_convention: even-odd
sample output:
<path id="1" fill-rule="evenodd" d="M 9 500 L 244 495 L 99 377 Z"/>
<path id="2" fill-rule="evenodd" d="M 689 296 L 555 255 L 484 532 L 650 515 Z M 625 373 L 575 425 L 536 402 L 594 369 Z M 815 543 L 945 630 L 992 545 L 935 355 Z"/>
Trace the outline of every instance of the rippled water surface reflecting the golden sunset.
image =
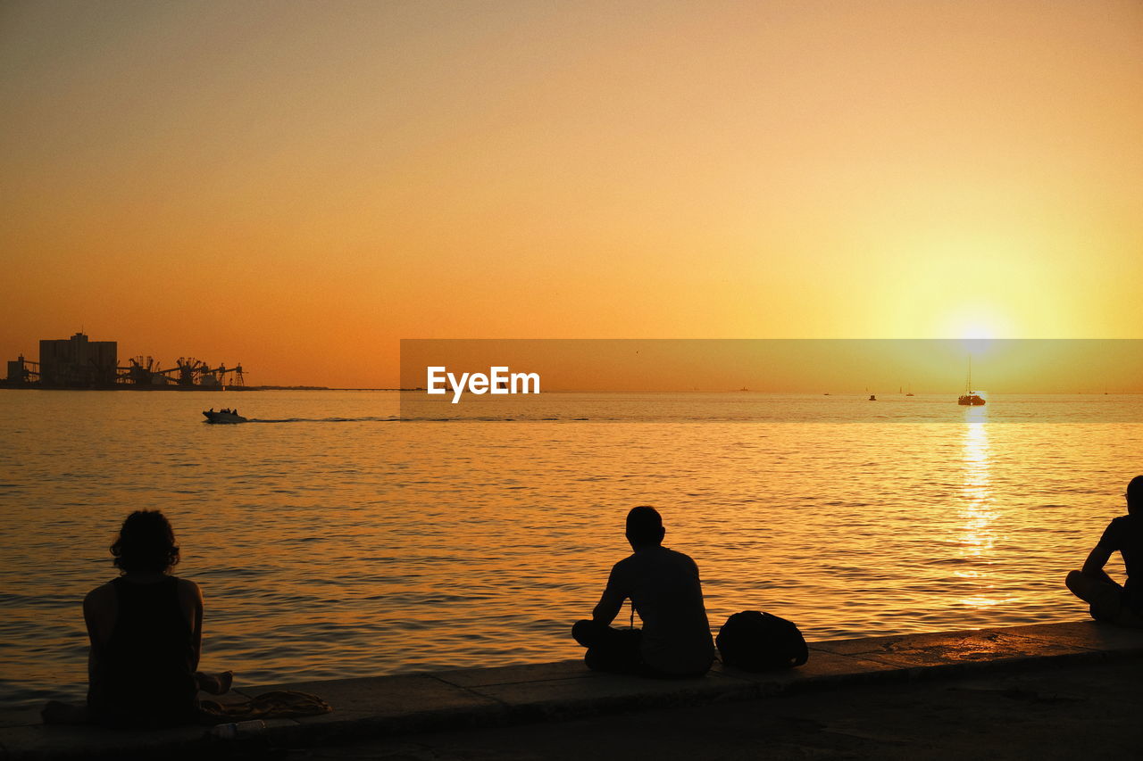
<path id="1" fill-rule="evenodd" d="M 716 628 L 1074 619 L 1063 576 L 1143 472 L 1138 396 L 543 399 L 557 419 L 399 423 L 384 392 L 0 391 L 0 702 L 82 695 L 80 603 L 131 510 L 167 513 L 202 586 L 202 666 L 251 684 L 576 657 L 637 504 Z"/>

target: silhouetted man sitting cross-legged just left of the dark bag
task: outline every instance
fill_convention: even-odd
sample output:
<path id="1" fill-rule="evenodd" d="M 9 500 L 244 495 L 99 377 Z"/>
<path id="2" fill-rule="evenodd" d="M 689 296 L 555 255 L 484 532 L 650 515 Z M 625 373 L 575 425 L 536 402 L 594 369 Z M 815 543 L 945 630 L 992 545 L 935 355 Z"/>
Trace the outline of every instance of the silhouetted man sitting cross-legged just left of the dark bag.
<path id="1" fill-rule="evenodd" d="M 615 563 L 591 620 L 577 622 L 572 635 L 588 648 L 594 671 L 648 676 L 698 676 L 714 660 L 698 567 L 663 544 L 663 519 L 654 507 L 628 513 L 626 537 L 634 551 Z M 612 628 L 624 600 L 631 600 L 644 628 Z"/>

